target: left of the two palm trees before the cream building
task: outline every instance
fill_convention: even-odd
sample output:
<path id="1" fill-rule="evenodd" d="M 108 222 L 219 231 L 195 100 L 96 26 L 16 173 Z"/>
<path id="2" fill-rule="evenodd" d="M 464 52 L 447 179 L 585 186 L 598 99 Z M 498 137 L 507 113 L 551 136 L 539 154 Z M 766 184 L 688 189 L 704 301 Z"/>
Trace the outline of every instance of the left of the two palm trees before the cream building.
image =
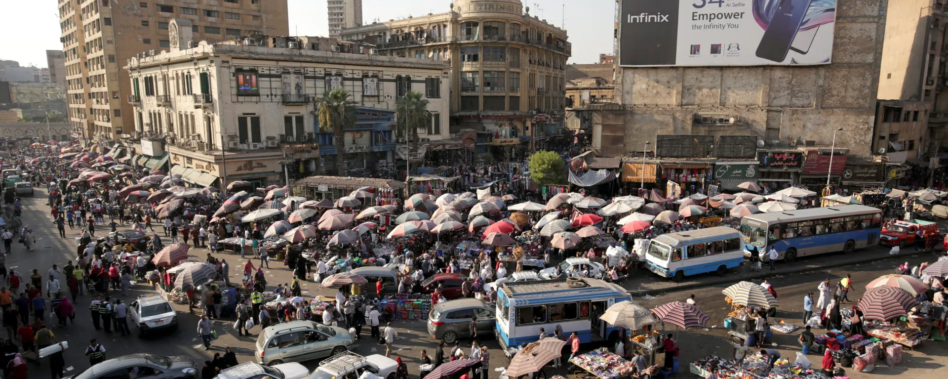
<path id="1" fill-rule="evenodd" d="M 319 128 L 335 134 L 336 166 L 338 176 L 346 176 L 345 136 L 342 130 L 356 124 L 356 102 L 350 99 L 349 91 L 336 88 L 322 95 L 317 108 Z"/>

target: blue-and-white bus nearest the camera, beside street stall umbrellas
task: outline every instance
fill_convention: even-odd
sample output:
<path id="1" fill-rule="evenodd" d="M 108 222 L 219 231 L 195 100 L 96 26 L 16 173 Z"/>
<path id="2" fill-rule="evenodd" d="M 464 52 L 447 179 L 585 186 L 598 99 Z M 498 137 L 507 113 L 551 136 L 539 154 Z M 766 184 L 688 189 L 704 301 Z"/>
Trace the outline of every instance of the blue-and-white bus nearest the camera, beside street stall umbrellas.
<path id="1" fill-rule="evenodd" d="M 613 304 L 631 300 L 622 287 L 588 277 L 505 282 L 497 293 L 494 334 L 502 349 L 536 342 L 539 330 L 553 335 L 559 325 L 579 342 L 610 341 L 619 328 L 599 319 Z"/>

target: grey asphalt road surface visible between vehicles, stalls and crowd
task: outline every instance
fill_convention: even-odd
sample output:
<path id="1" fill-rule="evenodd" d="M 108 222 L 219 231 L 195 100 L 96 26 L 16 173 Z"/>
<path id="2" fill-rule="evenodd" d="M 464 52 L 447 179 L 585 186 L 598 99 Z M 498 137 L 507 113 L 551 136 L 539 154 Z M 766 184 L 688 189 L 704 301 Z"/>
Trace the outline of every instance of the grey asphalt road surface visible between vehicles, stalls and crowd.
<path id="1" fill-rule="evenodd" d="M 51 223 L 51 219 L 49 218 L 49 208 L 45 205 L 45 191 L 38 189 L 36 195 L 37 197 L 34 199 L 27 198 L 23 200 L 23 220 L 25 224 L 31 227 L 36 235 L 36 249 L 34 252 L 26 252 L 22 245 L 14 244 L 14 253 L 7 257 L 8 267 L 14 268 L 14 270 L 19 271 L 23 275 L 27 275 L 27 273 L 31 272 L 34 268 L 39 269 L 41 273 L 46 273 L 46 270 L 53 264 L 59 264 L 60 267 L 62 267 L 67 260 L 74 256 L 76 247 L 75 237 L 78 237 L 78 230 L 68 229 L 66 238 L 58 237 L 55 226 Z M 818 282 L 826 277 L 833 280 L 847 273 L 852 274 L 857 291 L 855 291 L 854 294 L 850 294 L 850 298 L 854 300 L 858 299 L 859 295 L 863 292 L 859 290 L 861 285 L 865 285 L 866 282 L 879 275 L 890 273 L 893 267 L 906 259 L 897 257 L 895 259 L 863 264 L 855 262 L 849 264 L 849 262 L 868 259 L 869 256 L 879 257 L 880 252 L 884 251 L 887 250 L 874 248 L 866 249 L 863 256 L 829 255 L 812 257 L 802 259 L 793 265 L 781 267 L 780 271 L 773 277 L 770 277 L 770 282 L 775 285 L 776 292 L 781 301 L 779 316 L 791 321 L 798 320 L 801 315 L 803 295 L 806 294 L 807 291 L 815 292 Z M 203 261 L 207 253 L 208 251 L 204 249 L 191 250 L 191 259 Z M 239 274 L 235 274 L 241 264 L 239 256 L 234 254 L 218 254 L 215 256 L 228 259 L 231 265 L 230 272 L 232 273 L 232 280 L 240 280 Z M 926 254 L 907 258 L 907 260 L 913 263 L 919 262 L 921 259 L 934 260 L 935 255 Z M 254 262 L 255 265 L 258 263 L 259 260 Z M 799 270 L 805 269 L 806 267 L 818 268 L 821 265 L 831 266 L 836 264 L 847 264 L 847 266 L 829 270 L 816 270 L 815 272 L 803 274 L 780 274 L 782 271 Z M 282 262 L 272 261 L 270 268 L 264 269 L 264 271 L 271 277 L 269 281 L 274 285 L 278 281 L 288 283 L 291 280 L 291 273 L 283 266 Z M 724 279 L 733 283 L 743 277 L 754 276 L 754 274 L 757 273 L 747 273 L 745 269 L 738 269 L 737 272 L 725 276 Z M 769 275 L 769 273 L 764 275 Z M 679 346 L 683 347 L 683 354 L 680 356 L 680 360 L 682 362 L 681 367 L 684 371 L 687 370 L 685 366 L 687 362 L 693 361 L 703 355 L 718 353 L 724 356 L 730 354 L 731 349 L 729 349 L 728 339 L 724 336 L 725 333 L 720 330 L 721 320 L 724 315 L 729 312 L 726 303 L 723 301 L 723 295 L 720 294 L 720 290 L 726 287 L 726 285 L 704 286 L 704 284 L 713 284 L 718 281 L 721 281 L 721 278 L 718 276 L 701 275 L 686 280 L 684 283 L 676 284 L 670 283 L 655 275 L 641 272 L 637 274 L 635 278 L 629 280 L 629 284 L 627 285 L 627 288 L 632 292 L 646 289 L 651 294 L 659 294 L 657 297 L 650 299 L 636 297 L 637 301 L 640 301 L 642 305 L 648 308 L 664 304 L 668 301 L 684 301 L 688 294 L 695 294 L 702 310 L 711 317 L 712 321 L 709 323 L 710 328 L 707 331 L 680 332 Z M 757 282 L 759 282 L 759 280 L 757 280 Z M 676 287 L 683 285 L 697 286 L 697 288 L 685 291 L 675 290 Z M 318 291 L 318 285 L 315 283 L 306 283 L 303 286 L 303 293 L 306 296 L 334 294 L 325 290 Z M 147 294 L 154 294 L 152 288 L 145 284 L 137 284 L 133 286 L 131 294 L 124 297 L 120 296 L 120 298 L 128 303 L 139 295 Z M 76 324 L 70 324 L 62 329 L 57 327 L 52 328 L 52 331 L 61 341 L 66 340 L 70 342 L 70 348 L 65 351 L 65 361 L 66 366 L 73 370 L 68 371 L 66 373 L 67 375 L 78 374 L 89 367 L 88 360 L 82 354 L 82 351 L 84 351 L 90 338 L 99 339 L 99 342 L 107 350 L 107 357 L 116 357 L 124 353 L 132 352 L 149 352 L 160 355 L 186 355 L 200 364 L 205 360 L 210 360 L 214 352 L 223 352 L 225 347 L 230 347 L 235 351 L 240 362 L 252 360 L 256 333 L 260 332 L 260 329 L 255 327 L 251 331 L 254 335 L 250 337 L 238 337 L 237 333 L 231 328 L 233 319 L 215 321 L 215 330 L 218 331 L 221 337 L 214 341 L 211 351 L 204 351 L 200 346 L 200 339 L 195 332 L 198 316 L 188 314 L 187 306 L 175 305 L 180 323 L 177 332 L 147 338 L 139 338 L 135 335 L 122 337 L 116 332 L 106 334 L 105 332 L 96 331 L 92 328 L 90 315 L 87 311 L 88 304 L 91 300 L 90 296 L 84 295 L 76 302 Z M 411 376 L 416 377 L 418 374 L 421 350 L 428 350 L 429 353 L 433 352 L 437 347 L 437 341 L 428 335 L 426 325 L 422 321 L 396 321 L 394 326 L 399 332 L 399 340 L 395 343 L 395 351 L 393 351 L 392 358 L 395 356 L 402 357 L 409 365 Z M 6 337 L 5 334 L 6 332 L 0 332 L 0 335 L 4 337 Z M 785 351 L 784 356 L 793 356 L 791 351 L 797 350 L 795 335 L 775 335 L 774 340 L 778 344 L 778 349 Z M 496 341 L 488 340 L 486 341 L 486 345 L 491 350 L 490 377 L 499 378 L 501 372 L 498 370 L 506 367 L 508 361 L 498 349 L 499 345 Z M 884 373 L 891 375 L 908 375 L 913 378 L 934 378 L 935 370 L 943 370 L 944 364 L 948 363 L 948 359 L 945 358 L 945 346 L 943 342 L 938 344 L 926 342 L 918 351 L 906 353 L 905 364 L 902 367 L 891 369 L 881 368 L 876 370 L 873 374 Z M 582 349 L 583 351 L 589 351 L 596 347 L 597 346 L 593 345 L 584 345 Z M 362 341 L 357 342 L 354 350 L 361 354 L 384 353 L 385 351 L 384 347 L 376 345 L 370 338 L 363 338 Z M 811 357 L 811 360 L 814 363 L 818 363 L 817 358 L 818 357 Z M 49 372 L 45 363 L 43 360 L 41 360 L 40 364 L 31 363 L 29 366 L 29 376 L 35 378 L 47 377 Z M 318 366 L 318 362 L 310 361 L 304 363 L 304 365 L 313 370 Z M 547 371 L 550 374 L 566 373 L 565 370 Z M 682 375 L 690 374 L 684 372 Z M 868 375 L 871 374 L 851 374 L 853 378 L 868 377 Z M 940 376 L 941 375 L 939 375 L 939 377 Z"/>

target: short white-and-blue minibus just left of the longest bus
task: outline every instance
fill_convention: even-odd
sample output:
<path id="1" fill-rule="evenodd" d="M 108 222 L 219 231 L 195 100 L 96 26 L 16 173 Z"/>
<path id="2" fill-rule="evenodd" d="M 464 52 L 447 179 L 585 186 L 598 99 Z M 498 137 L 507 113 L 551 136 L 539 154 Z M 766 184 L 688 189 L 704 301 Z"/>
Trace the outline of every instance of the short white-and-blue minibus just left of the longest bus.
<path id="1" fill-rule="evenodd" d="M 652 273 L 679 281 L 685 275 L 714 272 L 740 266 L 744 250 L 740 232 L 726 226 L 668 233 L 648 244 L 646 267 Z"/>

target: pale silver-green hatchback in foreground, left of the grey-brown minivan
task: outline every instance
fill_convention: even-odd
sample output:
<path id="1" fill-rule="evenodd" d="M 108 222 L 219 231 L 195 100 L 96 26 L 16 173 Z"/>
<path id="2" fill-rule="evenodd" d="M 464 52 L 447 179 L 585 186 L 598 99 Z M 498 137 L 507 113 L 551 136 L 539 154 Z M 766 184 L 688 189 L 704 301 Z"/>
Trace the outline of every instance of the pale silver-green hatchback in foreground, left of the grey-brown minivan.
<path id="1" fill-rule="evenodd" d="M 348 331 L 309 320 L 269 326 L 257 336 L 257 362 L 279 365 L 304 362 L 347 351 L 356 339 Z"/>

